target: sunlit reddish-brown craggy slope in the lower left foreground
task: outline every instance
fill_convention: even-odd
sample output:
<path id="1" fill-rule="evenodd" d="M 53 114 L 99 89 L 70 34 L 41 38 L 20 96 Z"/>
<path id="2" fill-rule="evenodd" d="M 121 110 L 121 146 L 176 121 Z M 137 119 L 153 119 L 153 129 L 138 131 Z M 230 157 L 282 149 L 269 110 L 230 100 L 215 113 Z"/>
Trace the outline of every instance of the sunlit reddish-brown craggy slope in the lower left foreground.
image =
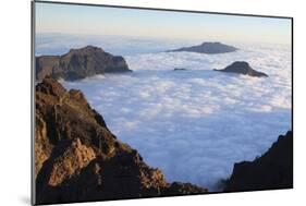
<path id="1" fill-rule="evenodd" d="M 79 90 L 50 76 L 36 86 L 36 204 L 206 193 L 169 183 L 120 142 Z"/>

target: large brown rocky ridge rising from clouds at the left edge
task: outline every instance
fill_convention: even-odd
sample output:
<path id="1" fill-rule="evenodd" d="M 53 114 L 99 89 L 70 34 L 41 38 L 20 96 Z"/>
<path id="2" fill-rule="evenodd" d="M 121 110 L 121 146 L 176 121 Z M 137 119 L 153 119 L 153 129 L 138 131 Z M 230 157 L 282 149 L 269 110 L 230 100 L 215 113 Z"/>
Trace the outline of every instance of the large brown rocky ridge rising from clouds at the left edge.
<path id="1" fill-rule="evenodd" d="M 93 46 L 71 49 L 63 56 L 36 57 L 37 81 L 41 81 L 46 75 L 75 81 L 96 74 L 131 71 L 122 57 L 112 56 Z"/>

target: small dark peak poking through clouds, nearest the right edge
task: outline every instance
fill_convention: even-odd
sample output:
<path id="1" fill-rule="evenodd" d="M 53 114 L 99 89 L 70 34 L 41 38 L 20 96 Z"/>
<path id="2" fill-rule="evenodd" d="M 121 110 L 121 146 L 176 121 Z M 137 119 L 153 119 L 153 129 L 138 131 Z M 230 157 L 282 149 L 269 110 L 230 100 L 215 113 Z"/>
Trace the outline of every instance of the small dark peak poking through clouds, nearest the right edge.
<path id="1" fill-rule="evenodd" d="M 218 72 L 230 72 L 230 73 L 237 73 L 237 74 L 244 74 L 249 76 L 257 76 L 257 77 L 268 77 L 267 74 L 264 72 L 258 72 L 249 66 L 249 64 L 245 61 L 235 61 L 231 65 L 228 65 L 223 70 L 216 70 Z"/>

